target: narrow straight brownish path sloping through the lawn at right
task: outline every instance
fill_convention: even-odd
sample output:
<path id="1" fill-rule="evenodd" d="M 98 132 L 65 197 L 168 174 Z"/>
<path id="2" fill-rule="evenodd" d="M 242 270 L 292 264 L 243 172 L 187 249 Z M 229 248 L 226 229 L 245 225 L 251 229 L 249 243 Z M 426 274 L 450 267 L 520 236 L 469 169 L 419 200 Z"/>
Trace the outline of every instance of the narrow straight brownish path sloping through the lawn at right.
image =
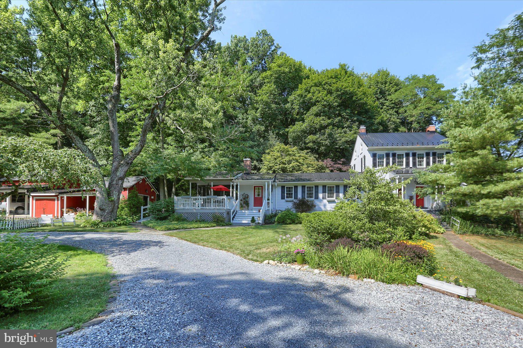
<path id="1" fill-rule="evenodd" d="M 488 267 L 498 271 L 499 273 L 505 275 L 508 279 L 511 279 L 521 285 L 523 285 L 523 271 L 519 268 L 509 265 L 503 261 L 500 261 L 490 255 L 483 253 L 483 251 L 477 250 L 469 243 L 463 241 L 459 235 L 453 232 L 445 232 L 443 234 L 445 238 L 448 239 L 453 246 L 465 251 L 473 258 L 483 262 Z"/>

